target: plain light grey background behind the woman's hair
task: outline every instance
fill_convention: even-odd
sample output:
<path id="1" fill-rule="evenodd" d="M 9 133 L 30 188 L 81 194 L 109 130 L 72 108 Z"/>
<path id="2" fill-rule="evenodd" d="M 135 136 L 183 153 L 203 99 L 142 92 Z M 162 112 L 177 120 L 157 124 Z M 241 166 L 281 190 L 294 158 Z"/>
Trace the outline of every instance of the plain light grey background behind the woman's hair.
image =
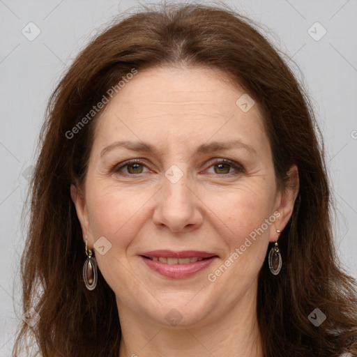
<path id="1" fill-rule="evenodd" d="M 336 246 L 357 278 L 357 1 L 225 2 L 271 31 L 266 35 L 292 57 L 289 63 L 312 97 L 337 208 Z M 10 356 L 22 316 L 22 207 L 47 100 L 79 49 L 131 6 L 137 1 L 0 0 L 0 356 Z M 40 29 L 33 41 L 22 34 L 29 22 Z M 327 31 L 319 40 L 307 32 L 315 22 Z M 319 25 L 311 31 L 323 33 Z"/>

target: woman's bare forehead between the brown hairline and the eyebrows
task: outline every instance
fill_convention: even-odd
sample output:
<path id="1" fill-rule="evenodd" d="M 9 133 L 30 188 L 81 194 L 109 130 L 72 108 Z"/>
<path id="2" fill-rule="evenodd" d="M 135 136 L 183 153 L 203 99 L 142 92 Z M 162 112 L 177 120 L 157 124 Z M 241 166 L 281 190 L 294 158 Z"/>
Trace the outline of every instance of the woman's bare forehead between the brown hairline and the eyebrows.
<path id="1" fill-rule="evenodd" d="M 139 71 L 100 115 L 95 144 L 130 138 L 188 147 L 210 139 L 242 139 L 266 146 L 258 105 L 244 112 L 237 105 L 242 96 L 247 93 L 226 73 L 212 68 Z"/>

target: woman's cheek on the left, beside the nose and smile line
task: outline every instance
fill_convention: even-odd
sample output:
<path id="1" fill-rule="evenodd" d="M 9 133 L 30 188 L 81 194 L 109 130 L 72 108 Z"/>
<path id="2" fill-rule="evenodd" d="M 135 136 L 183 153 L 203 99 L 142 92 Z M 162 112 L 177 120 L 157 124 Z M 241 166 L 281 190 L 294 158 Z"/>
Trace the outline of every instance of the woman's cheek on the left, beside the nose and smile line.
<path id="1" fill-rule="evenodd" d="M 93 243 L 104 236 L 110 247 L 105 255 L 95 252 L 98 267 L 114 291 L 121 291 L 122 286 L 125 286 L 130 294 L 139 291 L 137 280 L 132 278 L 134 270 L 128 261 L 128 254 L 130 245 L 135 242 L 139 229 L 147 220 L 145 204 L 151 196 L 142 191 L 128 192 L 118 187 L 100 188 L 100 185 L 96 185 L 96 189 L 93 189 L 88 197 Z"/>

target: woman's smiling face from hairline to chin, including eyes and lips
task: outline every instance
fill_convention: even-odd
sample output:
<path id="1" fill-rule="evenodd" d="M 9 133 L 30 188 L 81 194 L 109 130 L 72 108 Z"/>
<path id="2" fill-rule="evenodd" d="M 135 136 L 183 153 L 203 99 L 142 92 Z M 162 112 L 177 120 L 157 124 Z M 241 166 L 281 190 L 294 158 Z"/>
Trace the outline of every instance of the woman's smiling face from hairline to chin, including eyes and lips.
<path id="1" fill-rule="evenodd" d="M 199 326 L 254 305 L 294 195 L 277 189 L 252 104 L 218 71 L 155 68 L 102 112 L 84 190 L 71 192 L 119 314 Z"/>

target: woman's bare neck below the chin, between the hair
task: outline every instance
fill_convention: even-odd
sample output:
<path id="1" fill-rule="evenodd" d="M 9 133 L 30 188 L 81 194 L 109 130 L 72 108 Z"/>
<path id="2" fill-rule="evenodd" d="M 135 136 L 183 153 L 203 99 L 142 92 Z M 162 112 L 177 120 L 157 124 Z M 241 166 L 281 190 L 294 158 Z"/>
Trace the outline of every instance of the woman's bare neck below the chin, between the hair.
<path id="1" fill-rule="evenodd" d="M 119 357 L 263 357 L 257 324 L 257 285 L 252 284 L 226 314 L 209 323 L 167 328 L 119 305 Z"/>

